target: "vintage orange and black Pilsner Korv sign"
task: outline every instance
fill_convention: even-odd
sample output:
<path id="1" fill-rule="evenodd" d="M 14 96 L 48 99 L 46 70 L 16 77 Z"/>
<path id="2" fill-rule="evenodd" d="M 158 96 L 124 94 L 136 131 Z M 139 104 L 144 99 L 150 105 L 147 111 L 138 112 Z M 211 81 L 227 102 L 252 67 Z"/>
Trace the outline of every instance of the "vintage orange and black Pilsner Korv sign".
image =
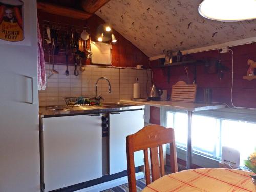
<path id="1" fill-rule="evenodd" d="M 0 39 L 22 41 L 23 2 L 20 0 L 0 0 Z"/>

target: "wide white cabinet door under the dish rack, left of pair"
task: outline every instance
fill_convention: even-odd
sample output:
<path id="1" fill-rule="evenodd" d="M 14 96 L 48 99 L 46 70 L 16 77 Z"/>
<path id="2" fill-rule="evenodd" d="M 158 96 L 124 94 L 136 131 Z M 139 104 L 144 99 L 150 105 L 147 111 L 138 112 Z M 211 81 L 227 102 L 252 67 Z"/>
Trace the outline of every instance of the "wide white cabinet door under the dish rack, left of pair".
<path id="1" fill-rule="evenodd" d="M 101 115 L 43 118 L 45 191 L 102 177 Z"/>

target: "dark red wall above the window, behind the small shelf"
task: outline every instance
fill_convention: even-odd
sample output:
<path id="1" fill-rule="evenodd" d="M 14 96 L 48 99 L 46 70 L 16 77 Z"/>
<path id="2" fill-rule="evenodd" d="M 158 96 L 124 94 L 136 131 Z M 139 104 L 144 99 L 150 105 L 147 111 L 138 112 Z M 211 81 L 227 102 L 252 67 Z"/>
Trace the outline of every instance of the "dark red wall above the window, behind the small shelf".
<path id="1" fill-rule="evenodd" d="M 243 76 L 246 75 L 248 65 L 247 60 L 252 59 L 256 61 L 256 43 L 240 45 L 231 48 L 233 50 L 234 59 L 234 81 L 233 81 L 233 103 L 236 106 L 246 106 L 256 108 L 256 79 L 252 81 L 244 80 Z M 200 53 L 193 53 L 186 55 L 189 60 L 200 59 L 205 60 L 208 58 L 219 59 L 218 50 L 205 51 Z M 208 74 L 204 65 L 197 66 L 197 85 L 198 94 L 197 100 L 203 101 L 203 89 L 212 89 L 212 101 L 224 102 L 231 106 L 230 90 L 231 90 L 231 72 L 232 60 L 231 52 L 221 54 L 222 63 L 229 67 L 230 70 L 224 72 L 223 79 L 218 78 L 218 74 Z M 153 82 L 156 86 L 166 89 L 168 94 L 172 90 L 172 85 L 178 81 L 185 81 L 189 84 L 193 80 L 193 67 L 188 65 L 188 75 L 184 66 L 173 66 L 170 68 L 170 83 L 167 82 L 167 68 L 155 68 L 158 60 L 151 61 L 153 69 Z"/>

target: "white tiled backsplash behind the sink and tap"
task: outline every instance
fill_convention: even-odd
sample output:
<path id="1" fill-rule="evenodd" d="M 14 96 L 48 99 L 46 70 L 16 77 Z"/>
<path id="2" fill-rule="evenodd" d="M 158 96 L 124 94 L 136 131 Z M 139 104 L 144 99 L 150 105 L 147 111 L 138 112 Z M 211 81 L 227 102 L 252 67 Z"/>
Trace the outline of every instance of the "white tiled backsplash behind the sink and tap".
<path id="1" fill-rule="evenodd" d="M 52 65 L 46 64 L 47 76 L 50 74 Z M 151 86 L 151 71 L 141 69 L 120 69 L 113 67 L 91 67 L 86 71 L 78 71 L 74 75 L 74 66 L 68 66 L 69 76 L 65 75 L 66 66 L 55 65 L 54 69 L 59 74 L 54 74 L 47 79 L 46 90 L 39 91 L 39 106 L 65 105 L 63 97 L 95 96 L 95 83 L 99 77 L 106 77 L 111 83 L 112 92 L 109 93 L 108 82 L 98 82 L 98 94 L 105 100 L 102 102 L 118 102 L 120 99 L 133 97 L 133 83 L 138 77 L 141 97 L 146 98 L 146 88 Z"/>

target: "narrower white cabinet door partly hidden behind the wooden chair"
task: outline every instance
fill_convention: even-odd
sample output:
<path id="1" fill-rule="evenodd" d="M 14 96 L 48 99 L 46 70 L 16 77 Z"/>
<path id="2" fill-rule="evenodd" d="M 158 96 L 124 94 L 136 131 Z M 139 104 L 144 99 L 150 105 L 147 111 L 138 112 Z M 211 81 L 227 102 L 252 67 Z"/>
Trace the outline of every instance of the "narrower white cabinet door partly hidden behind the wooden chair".
<path id="1" fill-rule="evenodd" d="M 144 127 L 144 110 L 110 113 L 110 174 L 127 170 L 126 136 Z M 144 165 L 143 151 L 134 153 L 135 167 Z"/>

